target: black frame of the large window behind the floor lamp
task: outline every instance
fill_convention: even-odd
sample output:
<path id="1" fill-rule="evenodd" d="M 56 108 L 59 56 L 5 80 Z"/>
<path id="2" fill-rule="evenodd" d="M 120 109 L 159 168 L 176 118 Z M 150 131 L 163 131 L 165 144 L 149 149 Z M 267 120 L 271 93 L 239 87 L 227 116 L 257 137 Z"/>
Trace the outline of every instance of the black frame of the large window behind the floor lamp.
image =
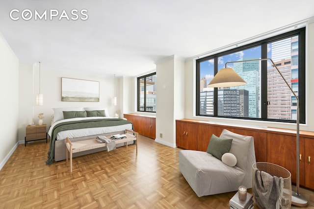
<path id="1" fill-rule="evenodd" d="M 244 46 L 239 46 L 233 49 L 222 51 L 213 55 L 209 55 L 200 59 L 196 59 L 196 116 L 206 116 L 206 117 L 222 117 L 222 118 L 235 118 L 235 119 L 247 119 L 247 120 L 263 120 L 263 121 L 274 121 L 274 122 L 286 122 L 286 123 L 295 123 L 296 120 L 286 120 L 286 119 L 270 119 L 267 118 L 267 64 L 265 61 L 261 62 L 261 118 L 256 117 L 235 117 L 235 116 L 218 116 L 218 88 L 214 88 L 214 100 L 213 100 L 213 112 L 212 116 L 202 115 L 200 112 L 200 63 L 207 60 L 214 60 L 214 75 L 217 73 L 218 69 L 218 57 L 249 49 L 256 46 L 261 46 L 261 58 L 267 58 L 267 44 L 280 41 L 289 37 L 298 35 L 298 98 L 299 98 L 299 111 L 300 111 L 300 123 L 305 124 L 306 122 L 306 113 L 305 113 L 305 101 L 306 101 L 306 84 L 305 84 L 305 27 L 289 31 L 274 37 L 263 39 L 251 44 Z M 291 57 L 292 65 L 292 57 Z M 302 82 L 300 82 L 302 81 Z M 264 105 L 265 104 L 265 105 Z"/>

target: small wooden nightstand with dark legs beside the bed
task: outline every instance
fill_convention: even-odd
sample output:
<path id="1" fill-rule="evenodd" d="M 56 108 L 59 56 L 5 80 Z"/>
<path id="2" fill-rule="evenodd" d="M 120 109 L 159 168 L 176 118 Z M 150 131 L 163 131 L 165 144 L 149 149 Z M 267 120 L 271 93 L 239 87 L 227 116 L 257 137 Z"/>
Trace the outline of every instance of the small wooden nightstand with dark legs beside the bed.
<path id="1" fill-rule="evenodd" d="M 46 139 L 47 143 L 46 124 L 26 126 L 25 146 L 27 144 L 27 141 L 35 141 L 42 139 Z"/>

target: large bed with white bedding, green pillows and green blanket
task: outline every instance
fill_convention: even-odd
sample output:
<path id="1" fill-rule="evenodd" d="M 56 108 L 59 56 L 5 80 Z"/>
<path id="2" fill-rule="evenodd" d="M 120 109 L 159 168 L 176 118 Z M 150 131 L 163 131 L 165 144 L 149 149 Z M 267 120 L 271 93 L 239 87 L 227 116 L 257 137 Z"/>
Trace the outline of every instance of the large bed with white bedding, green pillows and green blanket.
<path id="1" fill-rule="evenodd" d="M 52 126 L 48 131 L 50 146 L 46 164 L 66 159 L 66 138 L 72 142 L 111 136 L 133 130 L 130 121 L 110 117 L 106 108 L 53 108 Z M 132 142 L 129 142 L 132 144 Z M 117 145 L 118 146 L 118 145 Z M 120 144 L 123 146 L 123 144 Z M 106 150 L 101 147 L 76 153 L 73 157 Z"/>

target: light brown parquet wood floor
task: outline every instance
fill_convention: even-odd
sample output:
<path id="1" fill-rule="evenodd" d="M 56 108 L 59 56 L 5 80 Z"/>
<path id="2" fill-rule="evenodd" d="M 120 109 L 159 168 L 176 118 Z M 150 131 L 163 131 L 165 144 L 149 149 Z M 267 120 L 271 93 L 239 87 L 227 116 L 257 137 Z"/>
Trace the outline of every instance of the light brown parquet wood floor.
<path id="1" fill-rule="evenodd" d="M 0 209 L 229 209 L 235 192 L 197 197 L 178 168 L 179 148 L 139 136 L 119 147 L 46 165 L 48 144 L 20 144 L 0 171 Z M 251 190 L 249 190 L 251 192 Z M 314 208 L 314 192 L 300 193 Z M 292 207 L 293 208 L 293 207 Z"/>

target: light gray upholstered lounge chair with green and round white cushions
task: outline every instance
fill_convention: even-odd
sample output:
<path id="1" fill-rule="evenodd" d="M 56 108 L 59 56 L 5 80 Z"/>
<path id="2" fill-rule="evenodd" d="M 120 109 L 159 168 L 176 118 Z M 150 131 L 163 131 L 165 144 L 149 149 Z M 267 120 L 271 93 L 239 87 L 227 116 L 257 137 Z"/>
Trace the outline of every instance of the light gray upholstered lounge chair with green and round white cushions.
<path id="1" fill-rule="evenodd" d="M 221 145 L 220 152 L 217 146 L 224 141 L 222 139 L 229 139 L 229 142 Z M 218 139 L 212 137 L 210 141 L 207 152 L 179 152 L 179 169 L 196 195 L 201 197 L 236 191 L 241 185 L 251 188 L 252 165 L 256 163 L 253 137 L 223 130 Z M 230 150 L 223 153 L 228 148 Z"/>

